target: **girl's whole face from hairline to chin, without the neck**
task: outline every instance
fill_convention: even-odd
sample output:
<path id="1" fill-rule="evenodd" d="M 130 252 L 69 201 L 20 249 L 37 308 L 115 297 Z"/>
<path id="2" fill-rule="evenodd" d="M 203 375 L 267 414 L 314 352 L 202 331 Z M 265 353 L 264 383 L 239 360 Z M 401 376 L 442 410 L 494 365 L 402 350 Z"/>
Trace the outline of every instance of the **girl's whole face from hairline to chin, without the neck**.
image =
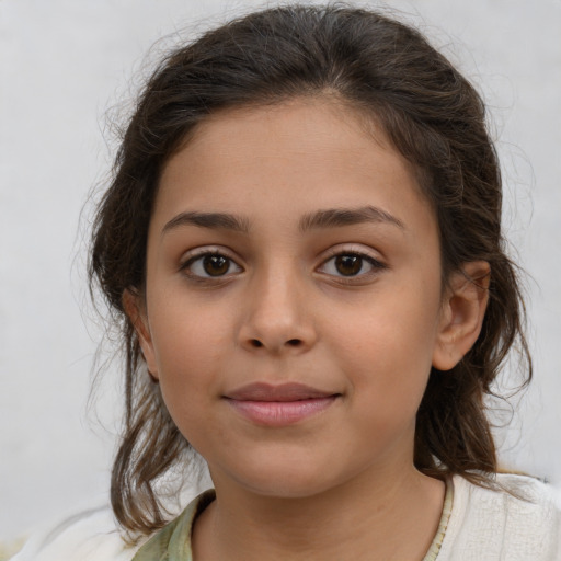
<path id="1" fill-rule="evenodd" d="M 216 484 L 304 496 L 413 469 L 437 225 L 358 118 L 321 100 L 225 112 L 163 171 L 137 327 Z"/>

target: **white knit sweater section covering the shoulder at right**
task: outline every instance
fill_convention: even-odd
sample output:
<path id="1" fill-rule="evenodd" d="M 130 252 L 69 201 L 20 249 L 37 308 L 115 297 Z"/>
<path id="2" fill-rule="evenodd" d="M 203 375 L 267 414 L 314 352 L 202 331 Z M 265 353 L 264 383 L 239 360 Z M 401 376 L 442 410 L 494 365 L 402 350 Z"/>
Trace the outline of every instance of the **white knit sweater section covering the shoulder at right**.
<path id="1" fill-rule="evenodd" d="M 453 483 L 443 561 L 561 560 L 561 512 L 552 488 L 515 474 L 499 474 L 496 490 L 458 476 Z"/>

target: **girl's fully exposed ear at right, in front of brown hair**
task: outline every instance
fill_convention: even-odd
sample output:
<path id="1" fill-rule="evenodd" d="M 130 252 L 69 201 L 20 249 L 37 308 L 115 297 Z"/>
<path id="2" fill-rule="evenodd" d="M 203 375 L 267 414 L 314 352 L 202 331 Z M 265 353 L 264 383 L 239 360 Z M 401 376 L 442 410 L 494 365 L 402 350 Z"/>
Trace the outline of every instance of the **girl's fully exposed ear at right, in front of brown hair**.
<path id="1" fill-rule="evenodd" d="M 433 352 L 436 369 L 454 368 L 476 343 L 489 300 L 490 276 L 486 261 L 465 263 L 450 276 Z"/>

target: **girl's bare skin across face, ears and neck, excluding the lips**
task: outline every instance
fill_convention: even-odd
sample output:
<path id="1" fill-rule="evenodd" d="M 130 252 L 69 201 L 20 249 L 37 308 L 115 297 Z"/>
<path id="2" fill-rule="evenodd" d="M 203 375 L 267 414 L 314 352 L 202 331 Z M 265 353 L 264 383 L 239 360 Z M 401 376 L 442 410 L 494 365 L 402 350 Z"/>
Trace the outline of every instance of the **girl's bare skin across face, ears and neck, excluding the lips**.
<path id="1" fill-rule="evenodd" d="M 421 560 L 436 533 L 444 484 L 413 465 L 415 414 L 431 367 L 451 368 L 476 341 L 486 293 L 461 273 L 443 290 L 433 209 L 358 117 L 325 99 L 222 112 L 164 168 L 146 293 L 125 305 L 216 486 L 195 524 L 197 561 Z M 310 224 L 364 208 L 378 213 Z M 193 224 L 193 213 L 241 228 Z M 209 276 L 205 251 L 226 259 L 220 274 Z M 252 382 L 334 398 L 264 426 L 227 399 Z"/>

